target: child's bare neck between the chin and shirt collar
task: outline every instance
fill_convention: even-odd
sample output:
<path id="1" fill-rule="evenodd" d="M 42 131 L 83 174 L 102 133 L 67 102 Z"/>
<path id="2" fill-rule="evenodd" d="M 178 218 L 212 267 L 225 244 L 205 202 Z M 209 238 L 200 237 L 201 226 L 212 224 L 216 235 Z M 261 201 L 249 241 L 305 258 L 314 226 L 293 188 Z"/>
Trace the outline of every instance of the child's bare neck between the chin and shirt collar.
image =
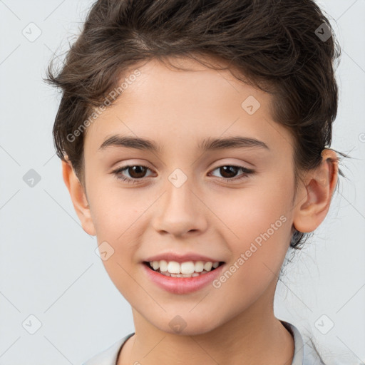
<path id="1" fill-rule="evenodd" d="M 118 365 L 139 364 L 136 361 L 145 365 L 292 364 L 292 335 L 264 306 L 252 306 L 204 334 L 161 331 L 134 309 L 133 319 L 135 335 L 123 346 Z"/>

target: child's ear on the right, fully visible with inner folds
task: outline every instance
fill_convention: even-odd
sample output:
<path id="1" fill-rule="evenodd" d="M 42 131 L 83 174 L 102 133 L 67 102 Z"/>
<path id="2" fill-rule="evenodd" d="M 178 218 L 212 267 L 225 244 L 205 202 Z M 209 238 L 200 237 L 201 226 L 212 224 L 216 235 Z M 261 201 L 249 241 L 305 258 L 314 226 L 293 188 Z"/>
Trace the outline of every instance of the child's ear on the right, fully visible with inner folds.
<path id="1" fill-rule="evenodd" d="M 313 232 L 329 210 L 338 179 L 338 160 L 334 150 L 322 151 L 322 163 L 310 170 L 297 194 L 293 224 L 299 232 Z"/>

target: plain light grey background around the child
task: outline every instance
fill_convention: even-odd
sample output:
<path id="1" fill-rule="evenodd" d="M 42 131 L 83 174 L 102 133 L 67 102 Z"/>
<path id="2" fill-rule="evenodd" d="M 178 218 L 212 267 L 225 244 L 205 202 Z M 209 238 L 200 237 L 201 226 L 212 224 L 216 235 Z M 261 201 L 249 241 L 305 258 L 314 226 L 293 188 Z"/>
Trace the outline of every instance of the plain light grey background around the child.
<path id="1" fill-rule="evenodd" d="M 60 97 L 41 79 L 91 3 L 0 0 L 0 364 L 81 364 L 134 331 L 130 305 L 63 185 L 51 138 Z M 353 364 L 365 361 L 365 1 L 319 4 L 342 46 L 332 147 L 353 159 L 344 160 L 349 180 L 341 178 L 326 220 L 286 267 L 275 314 L 312 331 L 319 348 L 344 349 Z M 23 30 L 34 37 L 36 27 L 42 33 L 29 41 Z M 30 169 L 41 176 L 34 187 L 23 180 Z M 34 334 L 31 315 L 41 322 Z"/>

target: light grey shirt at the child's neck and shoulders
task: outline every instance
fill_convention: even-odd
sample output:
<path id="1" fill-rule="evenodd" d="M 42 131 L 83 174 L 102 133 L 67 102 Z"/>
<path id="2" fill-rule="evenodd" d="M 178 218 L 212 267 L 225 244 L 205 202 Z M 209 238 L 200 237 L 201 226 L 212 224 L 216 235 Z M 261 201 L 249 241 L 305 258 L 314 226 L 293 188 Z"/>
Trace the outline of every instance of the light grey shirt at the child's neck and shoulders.
<path id="1" fill-rule="evenodd" d="M 332 356 L 331 359 L 326 359 L 324 360 L 325 362 L 323 362 L 317 352 L 309 345 L 309 342 L 307 341 L 304 343 L 302 334 L 300 334 L 297 327 L 289 322 L 282 320 L 280 322 L 289 330 L 294 339 L 294 358 L 292 365 L 365 365 L 364 362 L 357 361 L 354 357 L 352 357 L 353 360 L 344 361 L 342 358 L 339 359 L 338 356 Z M 123 339 L 119 339 L 115 344 L 108 347 L 108 349 L 101 351 L 96 356 L 93 356 L 83 365 L 117 365 L 118 355 L 123 344 L 125 344 L 125 341 L 133 336 L 133 334 L 135 334 L 135 332 L 128 334 L 123 337 Z"/>

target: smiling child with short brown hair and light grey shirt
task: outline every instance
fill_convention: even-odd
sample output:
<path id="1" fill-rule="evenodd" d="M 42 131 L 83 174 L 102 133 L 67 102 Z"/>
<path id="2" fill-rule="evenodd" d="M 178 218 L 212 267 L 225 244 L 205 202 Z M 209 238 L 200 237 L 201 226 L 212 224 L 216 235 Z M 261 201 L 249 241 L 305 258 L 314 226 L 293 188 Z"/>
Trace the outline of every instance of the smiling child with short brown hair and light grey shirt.
<path id="1" fill-rule="evenodd" d="M 312 0 L 96 1 L 53 137 L 135 332 L 85 364 L 324 364 L 273 300 L 337 185 L 338 56 Z"/>

